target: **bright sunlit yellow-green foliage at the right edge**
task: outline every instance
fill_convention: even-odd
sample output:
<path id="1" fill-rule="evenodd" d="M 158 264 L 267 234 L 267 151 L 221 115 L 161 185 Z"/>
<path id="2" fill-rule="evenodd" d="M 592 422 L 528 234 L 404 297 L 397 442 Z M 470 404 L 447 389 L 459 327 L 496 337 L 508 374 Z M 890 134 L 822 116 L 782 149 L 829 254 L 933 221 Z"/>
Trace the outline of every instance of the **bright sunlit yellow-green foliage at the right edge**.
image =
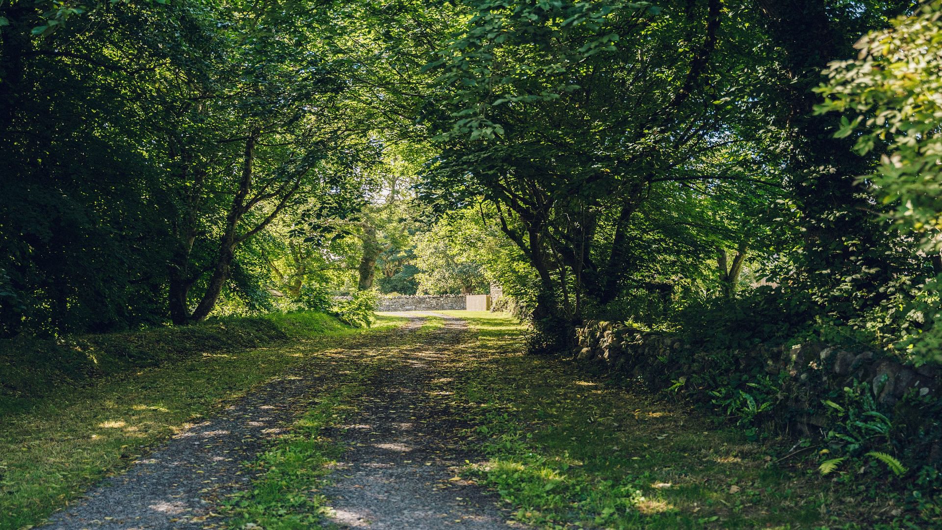
<path id="1" fill-rule="evenodd" d="M 836 138 L 855 137 L 860 155 L 883 152 L 876 173 L 861 172 L 857 181 L 891 207 L 885 218 L 904 238 L 918 238 L 916 258 L 924 270 L 911 273 L 916 295 L 905 300 L 904 319 L 893 321 L 905 330 L 899 345 L 920 361 L 938 359 L 942 345 L 940 17 L 942 2 L 927 2 L 891 27 L 869 32 L 855 44 L 858 58 L 831 62 L 817 89 L 825 97 L 819 115 L 843 113 Z"/>

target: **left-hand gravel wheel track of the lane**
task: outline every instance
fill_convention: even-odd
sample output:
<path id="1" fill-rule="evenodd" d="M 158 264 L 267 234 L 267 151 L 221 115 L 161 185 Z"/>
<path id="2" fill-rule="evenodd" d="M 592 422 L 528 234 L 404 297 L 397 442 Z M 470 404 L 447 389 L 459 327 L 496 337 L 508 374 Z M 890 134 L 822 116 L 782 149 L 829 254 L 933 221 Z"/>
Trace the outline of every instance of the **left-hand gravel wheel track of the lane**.
<path id="1" fill-rule="evenodd" d="M 242 462 L 307 408 L 317 380 L 300 366 L 268 382 L 107 478 L 41 528 L 203 528 L 222 495 L 249 484 Z"/>

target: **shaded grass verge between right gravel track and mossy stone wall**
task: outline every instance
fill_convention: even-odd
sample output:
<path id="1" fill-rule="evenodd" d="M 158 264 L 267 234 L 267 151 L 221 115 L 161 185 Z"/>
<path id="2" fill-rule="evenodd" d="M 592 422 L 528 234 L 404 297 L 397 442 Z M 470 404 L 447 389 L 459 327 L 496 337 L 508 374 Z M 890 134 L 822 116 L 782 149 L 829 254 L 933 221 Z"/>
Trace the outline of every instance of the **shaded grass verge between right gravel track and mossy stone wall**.
<path id="1" fill-rule="evenodd" d="M 465 476 L 541 528 L 897 527 L 892 500 L 821 478 L 813 457 L 565 360 L 526 356 L 500 314 L 445 311 L 479 334 L 455 406 L 486 459 Z M 879 488 L 878 488 L 879 489 Z M 899 513 L 899 512 L 897 512 Z"/>

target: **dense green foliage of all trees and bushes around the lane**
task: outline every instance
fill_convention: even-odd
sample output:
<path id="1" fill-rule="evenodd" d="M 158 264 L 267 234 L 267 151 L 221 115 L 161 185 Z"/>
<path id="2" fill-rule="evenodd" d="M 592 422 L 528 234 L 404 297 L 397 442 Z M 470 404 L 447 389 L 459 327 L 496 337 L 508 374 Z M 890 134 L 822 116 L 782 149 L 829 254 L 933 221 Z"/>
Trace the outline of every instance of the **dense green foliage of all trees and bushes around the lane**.
<path id="1" fill-rule="evenodd" d="M 689 380 L 750 425 L 780 389 L 764 352 L 933 373 L 940 21 L 939 0 L 2 1 L 0 339 L 368 326 L 381 293 L 499 286 L 531 351 L 586 320 L 682 333 L 722 371 Z M 883 428 L 852 387 L 806 407 L 837 439 Z M 848 455 L 892 463 L 911 434 Z"/>

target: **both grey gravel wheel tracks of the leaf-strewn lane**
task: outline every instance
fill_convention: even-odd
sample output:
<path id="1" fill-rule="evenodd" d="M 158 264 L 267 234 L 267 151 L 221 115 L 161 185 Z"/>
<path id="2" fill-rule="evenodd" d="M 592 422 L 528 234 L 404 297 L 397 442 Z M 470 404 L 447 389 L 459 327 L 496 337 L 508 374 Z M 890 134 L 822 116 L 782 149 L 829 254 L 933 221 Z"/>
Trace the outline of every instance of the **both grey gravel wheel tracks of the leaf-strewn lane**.
<path id="1" fill-rule="evenodd" d="M 443 316 L 444 317 L 444 316 Z M 335 500 L 333 523 L 348 528 L 506 528 L 494 498 L 454 478 L 463 462 L 453 438 L 462 425 L 433 405 L 425 383 L 447 372 L 447 347 L 465 338 L 463 321 L 445 317 L 427 343 L 402 346 L 397 361 L 371 382 L 356 423 L 341 434 L 351 450 L 324 492 Z M 412 317 L 402 331 L 412 333 Z M 368 347 L 349 340 L 345 355 Z M 219 527 L 214 506 L 246 488 L 252 460 L 266 440 L 311 405 L 328 371 L 296 367 L 219 414 L 188 428 L 125 473 L 106 479 L 41 528 L 171 529 Z M 442 400 L 439 400 L 442 401 Z M 340 433 L 338 433 L 340 434 Z"/>

